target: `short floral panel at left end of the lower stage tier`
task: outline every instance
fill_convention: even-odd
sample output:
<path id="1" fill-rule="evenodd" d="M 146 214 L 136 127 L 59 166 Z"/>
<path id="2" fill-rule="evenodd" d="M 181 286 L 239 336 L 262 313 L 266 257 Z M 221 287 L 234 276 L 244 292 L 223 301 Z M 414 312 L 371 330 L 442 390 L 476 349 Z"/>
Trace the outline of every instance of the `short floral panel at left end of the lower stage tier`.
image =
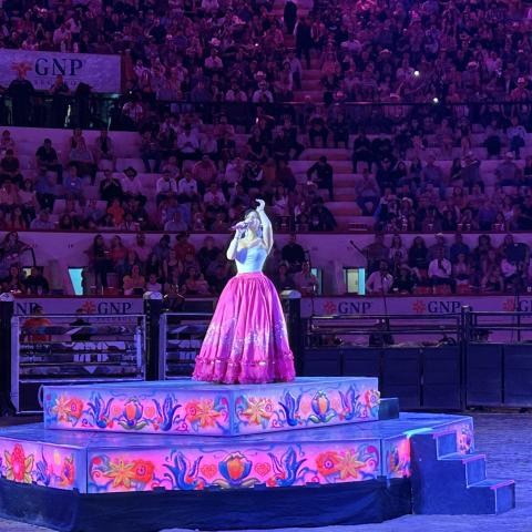
<path id="1" fill-rule="evenodd" d="M 0 475 L 25 484 L 84 491 L 75 451 L 37 442 L 0 439 Z"/>

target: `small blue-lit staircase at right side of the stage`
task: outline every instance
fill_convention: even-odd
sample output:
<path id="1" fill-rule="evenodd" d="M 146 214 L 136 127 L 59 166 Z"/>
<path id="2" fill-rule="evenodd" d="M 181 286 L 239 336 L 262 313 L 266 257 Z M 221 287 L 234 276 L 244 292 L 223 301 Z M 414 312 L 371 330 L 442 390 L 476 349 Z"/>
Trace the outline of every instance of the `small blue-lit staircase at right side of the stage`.
<path id="1" fill-rule="evenodd" d="M 495 514 L 514 508 L 514 481 L 487 479 L 485 454 L 460 442 L 448 428 L 412 434 L 413 512 Z"/>

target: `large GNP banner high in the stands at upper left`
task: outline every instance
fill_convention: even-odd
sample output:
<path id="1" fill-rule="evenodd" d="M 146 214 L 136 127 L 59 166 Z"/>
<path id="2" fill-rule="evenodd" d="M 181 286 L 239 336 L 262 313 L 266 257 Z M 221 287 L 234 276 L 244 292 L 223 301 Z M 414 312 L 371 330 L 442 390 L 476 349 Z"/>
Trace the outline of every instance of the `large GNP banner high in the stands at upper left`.
<path id="1" fill-rule="evenodd" d="M 94 92 L 120 92 L 120 55 L 0 50 L 0 85 L 9 86 L 19 71 L 38 91 L 49 90 L 59 74 L 70 89 L 80 82 Z"/>

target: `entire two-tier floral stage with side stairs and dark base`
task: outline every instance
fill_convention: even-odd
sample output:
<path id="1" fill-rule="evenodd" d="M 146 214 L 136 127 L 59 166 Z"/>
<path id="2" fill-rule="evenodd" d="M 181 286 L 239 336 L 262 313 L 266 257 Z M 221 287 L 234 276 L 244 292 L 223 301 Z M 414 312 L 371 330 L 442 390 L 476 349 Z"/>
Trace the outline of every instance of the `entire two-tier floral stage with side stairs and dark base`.
<path id="1" fill-rule="evenodd" d="M 44 401 L 45 423 L 0 431 L 0 515 L 58 530 L 100 531 L 99 514 L 147 532 L 514 505 L 513 481 L 487 480 L 470 417 L 399 415 L 376 379 L 49 387 Z"/>

